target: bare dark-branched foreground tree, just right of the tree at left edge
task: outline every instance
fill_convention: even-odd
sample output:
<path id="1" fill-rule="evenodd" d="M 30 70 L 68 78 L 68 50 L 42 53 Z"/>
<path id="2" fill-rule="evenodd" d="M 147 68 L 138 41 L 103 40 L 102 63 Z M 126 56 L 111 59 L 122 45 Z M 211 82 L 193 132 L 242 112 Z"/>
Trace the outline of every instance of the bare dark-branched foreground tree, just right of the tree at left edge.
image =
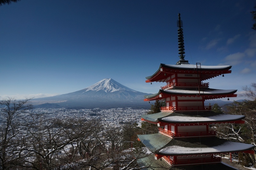
<path id="1" fill-rule="evenodd" d="M 26 167 L 48 170 L 72 164 L 77 154 L 74 144 L 90 132 L 90 127 L 81 127 L 81 123 L 73 119 L 42 121 L 30 133 L 30 148 L 26 151 L 33 159 L 27 161 Z"/>

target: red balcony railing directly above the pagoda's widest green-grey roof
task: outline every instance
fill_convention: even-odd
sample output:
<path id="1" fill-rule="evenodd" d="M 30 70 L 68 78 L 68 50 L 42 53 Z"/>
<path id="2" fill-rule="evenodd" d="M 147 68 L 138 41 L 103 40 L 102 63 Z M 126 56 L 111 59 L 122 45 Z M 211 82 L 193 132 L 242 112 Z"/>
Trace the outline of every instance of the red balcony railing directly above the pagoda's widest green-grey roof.
<path id="1" fill-rule="evenodd" d="M 170 131 L 166 131 L 162 128 L 158 128 L 159 133 L 162 133 L 169 137 L 202 137 L 202 136 L 216 136 L 216 131 L 209 130 L 209 131 L 201 131 L 201 132 L 181 132 L 181 133 L 172 133 Z"/>

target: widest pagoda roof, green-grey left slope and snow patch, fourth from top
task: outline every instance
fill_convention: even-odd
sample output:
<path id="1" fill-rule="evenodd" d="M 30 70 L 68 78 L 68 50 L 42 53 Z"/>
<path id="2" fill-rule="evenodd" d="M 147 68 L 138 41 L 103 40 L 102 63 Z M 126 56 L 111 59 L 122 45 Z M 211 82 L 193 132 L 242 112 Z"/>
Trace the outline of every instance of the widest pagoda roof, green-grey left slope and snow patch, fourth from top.
<path id="1" fill-rule="evenodd" d="M 138 135 L 138 137 L 151 152 L 160 155 L 178 156 L 242 152 L 255 147 L 252 144 L 231 142 L 218 137 L 172 139 L 161 133 Z"/>

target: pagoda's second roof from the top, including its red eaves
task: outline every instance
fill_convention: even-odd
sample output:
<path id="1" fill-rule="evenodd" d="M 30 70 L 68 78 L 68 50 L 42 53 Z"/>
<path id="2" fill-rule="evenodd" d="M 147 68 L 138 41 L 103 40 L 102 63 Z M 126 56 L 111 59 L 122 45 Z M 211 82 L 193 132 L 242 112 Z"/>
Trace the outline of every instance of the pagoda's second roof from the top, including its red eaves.
<path id="1" fill-rule="evenodd" d="M 161 100 L 171 96 L 196 97 L 204 96 L 204 99 L 218 99 L 223 97 L 236 97 L 234 93 L 237 90 L 220 90 L 211 88 L 172 88 L 167 90 L 159 90 L 158 93 L 144 96 L 145 101 Z"/>

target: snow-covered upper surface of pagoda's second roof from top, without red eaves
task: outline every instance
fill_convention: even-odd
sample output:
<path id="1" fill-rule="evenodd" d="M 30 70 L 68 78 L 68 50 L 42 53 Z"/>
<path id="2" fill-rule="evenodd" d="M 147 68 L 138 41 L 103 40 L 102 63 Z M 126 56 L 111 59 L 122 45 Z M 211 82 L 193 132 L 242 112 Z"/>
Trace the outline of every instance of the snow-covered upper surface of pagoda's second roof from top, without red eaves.
<path id="1" fill-rule="evenodd" d="M 198 88 L 172 88 L 168 90 L 159 90 L 158 93 L 150 94 L 144 96 L 146 99 L 155 98 L 159 96 L 161 93 L 166 94 L 173 94 L 177 96 L 183 96 L 183 95 L 222 95 L 222 94 L 234 94 L 237 90 L 220 90 L 220 89 L 210 89 L 210 88 L 201 88 L 200 91 L 198 91 Z M 223 96 L 224 97 L 224 96 Z"/>

